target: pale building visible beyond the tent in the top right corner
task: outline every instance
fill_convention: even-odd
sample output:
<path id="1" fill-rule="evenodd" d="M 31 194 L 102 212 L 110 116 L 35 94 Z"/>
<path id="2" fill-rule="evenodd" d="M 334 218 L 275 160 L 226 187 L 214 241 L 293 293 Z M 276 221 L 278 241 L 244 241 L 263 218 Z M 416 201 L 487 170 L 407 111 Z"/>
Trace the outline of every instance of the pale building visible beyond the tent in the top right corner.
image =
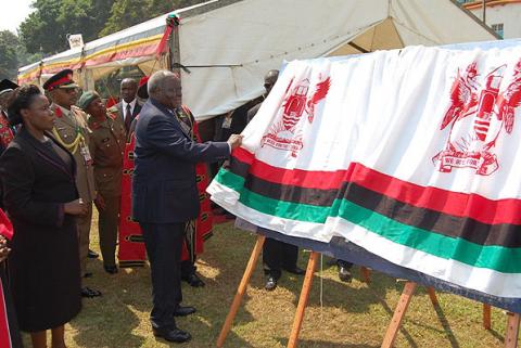
<path id="1" fill-rule="evenodd" d="M 482 0 L 457 0 L 483 20 Z M 485 0 L 485 23 L 505 39 L 521 37 L 521 0 Z"/>

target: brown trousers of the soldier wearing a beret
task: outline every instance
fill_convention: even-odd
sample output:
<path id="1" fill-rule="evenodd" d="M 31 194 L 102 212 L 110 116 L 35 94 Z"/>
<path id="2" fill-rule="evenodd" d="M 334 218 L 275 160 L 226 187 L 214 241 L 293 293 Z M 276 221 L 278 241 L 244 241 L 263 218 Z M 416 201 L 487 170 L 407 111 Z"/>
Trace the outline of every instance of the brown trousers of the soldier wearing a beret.
<path id="1" fill-rule="evenodd" d="M 99 211 L 98 232 L 103 266 L 116 266 L 117 224 L 119 223 L 120 196 L 103 196 L 105 208 Z"/>

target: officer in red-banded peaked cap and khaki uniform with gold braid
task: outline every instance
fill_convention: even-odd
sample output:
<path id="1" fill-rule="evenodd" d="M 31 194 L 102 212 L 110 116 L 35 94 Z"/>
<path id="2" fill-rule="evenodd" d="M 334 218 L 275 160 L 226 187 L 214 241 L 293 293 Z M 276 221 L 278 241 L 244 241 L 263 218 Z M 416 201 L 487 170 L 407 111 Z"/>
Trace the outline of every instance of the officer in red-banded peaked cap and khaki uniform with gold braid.
<path id="1" fill-rule="evenodd" d="M 87 272 L 87 257 L 89 252 L 89 234 L 92 220 L 92 202 L 96 198 L 94 175 L 92 157 L 90 156 L 90 129 L 87 125 L 87 115 L 77 106 L 78 85 L 73 80 L 73 70 L 64 69 L 49 78 L 43 89 L 52 100 L 51 108 L 56 116 L 52 133 L 54 138 L 67 149 L 76 162 L 76 188 L 79 197 L 87 206 L 87 214 L 78 217 L 79 262 L 81 275 Z M 100 296 L 99 291 L 87 286 L 81 288 L 81 296 Z"/>

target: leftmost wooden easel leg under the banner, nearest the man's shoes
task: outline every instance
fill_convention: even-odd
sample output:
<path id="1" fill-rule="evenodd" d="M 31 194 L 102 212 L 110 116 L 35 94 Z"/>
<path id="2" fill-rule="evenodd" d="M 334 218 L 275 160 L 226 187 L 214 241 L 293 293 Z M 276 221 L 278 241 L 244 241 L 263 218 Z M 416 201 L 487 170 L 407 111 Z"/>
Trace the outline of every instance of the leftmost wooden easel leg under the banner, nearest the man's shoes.
<path id="1" fill-rule="evenodd" d="M 225 324 L 223 325 L 223 330 L 220 331 L 219 338 L 217 338 L 217 347 L 220 348 L 225 344 L 226 336 L 230 332 L 231 323 L 236 318 L 237 311 L 239 310 L 239 306 L 241 305 L 242 297 L 246 292 L 247 284 L 250 283 L 250 278 L 252 276 L 253 270 L 255 269 L 255 265 L 257 263 L 258 256 L 263 250 L 264 241 L 266 236 L 259 234 L 257 236 L 257 242 L 253 247 L 252 255 L 250 256 L 250 260 L 247 261 L 246 269 L 244 270 L 244 274 L 242 275 L 241 283 L 237 288 L 236 297 L 233 298 L 233 302 L 231 304 L 230 311 L 226 317 Z"/>

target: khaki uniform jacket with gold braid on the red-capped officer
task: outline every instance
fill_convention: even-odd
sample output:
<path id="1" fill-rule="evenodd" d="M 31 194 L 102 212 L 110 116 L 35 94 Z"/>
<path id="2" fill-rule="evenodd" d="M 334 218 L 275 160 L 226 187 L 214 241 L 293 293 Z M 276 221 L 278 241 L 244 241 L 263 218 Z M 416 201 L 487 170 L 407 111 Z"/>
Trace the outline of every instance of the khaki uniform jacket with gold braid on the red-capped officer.
<path id="1" fill-rule="evenodd" d="M 73 154 L 76 162 L 76 188 L 79 197 L 85 203 L 90 203 L 96 198 L 97 192 L 92 159 L 89 160 L 91 131 L 87 125 L 87 114 L 76 106 L 72 106 L 68 111 L 52 104 L 51 108 L 56 115 L 52 133 Z"/>

